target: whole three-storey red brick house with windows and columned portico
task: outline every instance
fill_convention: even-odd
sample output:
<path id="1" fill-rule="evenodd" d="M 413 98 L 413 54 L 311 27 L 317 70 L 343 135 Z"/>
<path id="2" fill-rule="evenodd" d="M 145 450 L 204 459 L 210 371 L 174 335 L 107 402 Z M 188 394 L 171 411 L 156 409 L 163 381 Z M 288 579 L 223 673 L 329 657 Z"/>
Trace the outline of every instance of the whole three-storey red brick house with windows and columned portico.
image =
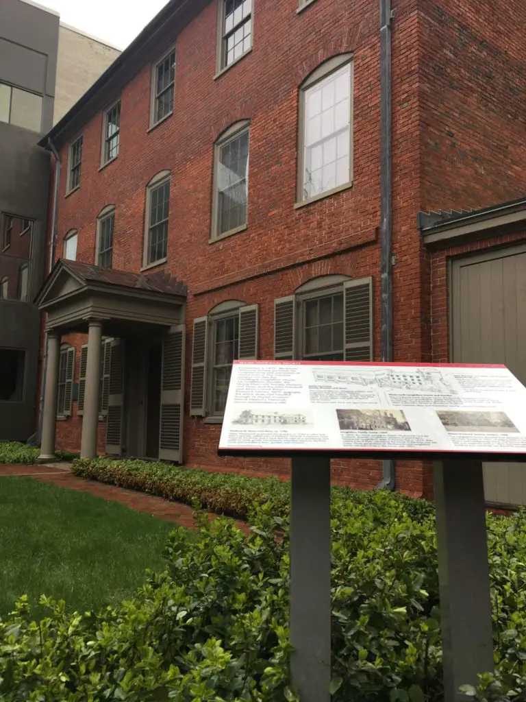
<path id="1" fill-rule="evenodd" d="M 513 290 L 498 274 L 489 280 L 516 308 L 525 294 L 526 204 L 510 206 L 511 219 L 492 206 L 526 192 L 526 6 L 393 0 L 386 9 L 171 0 L 53 128 L 62 167 L 50 245 L 58 260 L 76 241 L 77 261 L 58 263 L 40 298 L 55 350 L 62 344 L 60 448 L 81 446 L 84 404 L 92 415 L 95 406 L 86 373 L 93 380 L 97 365 L 98 451 L 288 472 L 285 461 L 217 457 L 229 364 L 388 358 L 386 213 L 393 359 L 510 355 L 453 352 L 461 300 L 448 290 L 457 257 L 513 246 Z M 475 216 L 479 208 L 490 211 Z M 135 326 L 125 298 L 137 305 Z M 89 359 L 93 320 L 95 345 L 119 342 Z M 510 324 L 525 333 L 523 319 Z M 332 470 L 357 487 L 382 479 L 372 462 Z M 430 495 L 431 468 L 398 463 L 396 484 Z"/>

